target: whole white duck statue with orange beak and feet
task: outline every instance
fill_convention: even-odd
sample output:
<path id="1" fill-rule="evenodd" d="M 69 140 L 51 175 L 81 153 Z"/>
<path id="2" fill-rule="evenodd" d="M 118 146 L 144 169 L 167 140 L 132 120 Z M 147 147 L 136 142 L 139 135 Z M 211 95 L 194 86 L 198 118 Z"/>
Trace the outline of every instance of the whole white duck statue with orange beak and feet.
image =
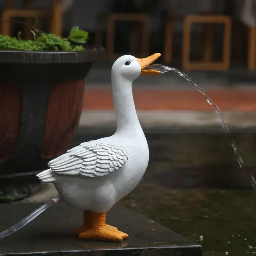
<path id="1" fill-rule="evenodd" d="M 160 53 L 144 59 L 124 55 L 112 66 L 112 94 L 117 129 L 114 135 L 84 142 L 49 162 L 37 177 L 53 183 L 66 204 L 84 210 L 84 224 L 76 230 L 83 239 L 121 242 L 128 235 L 106 225 L 106 212 L 141 180 L 148 166 L 148 143 L 132 97 L 132 82 Z"/>

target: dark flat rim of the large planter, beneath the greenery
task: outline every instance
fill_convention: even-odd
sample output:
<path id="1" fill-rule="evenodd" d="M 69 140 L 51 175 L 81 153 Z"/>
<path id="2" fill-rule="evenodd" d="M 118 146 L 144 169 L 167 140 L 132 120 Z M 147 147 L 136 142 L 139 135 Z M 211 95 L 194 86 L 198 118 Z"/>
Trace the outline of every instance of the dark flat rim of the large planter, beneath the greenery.
<path id="1" fill-rule="evenodd" d="M 50 64 L 98 62 L 106 59 L 104 48 L 85 49 L 81 52 L 0 51 L 0 63 Z"/>

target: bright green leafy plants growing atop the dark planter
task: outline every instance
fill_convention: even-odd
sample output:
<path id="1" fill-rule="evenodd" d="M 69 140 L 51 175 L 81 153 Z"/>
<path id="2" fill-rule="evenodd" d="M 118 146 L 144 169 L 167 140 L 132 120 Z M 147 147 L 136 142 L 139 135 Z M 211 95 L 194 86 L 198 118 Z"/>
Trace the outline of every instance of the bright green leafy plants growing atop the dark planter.
<path id="1" fill-rule="evenodd" d="M 68 38 L 56 36 L 53 33 L 46 34 L 33 28 L 31 33 L 34 40 L 23 40 L 16 37 L 0 35 L 0 50 L 1 51 L 83 51 L 83 45 L 74 45 L 71 42 L 85 44 L 88 39 L 88 32 L 79 29 L 78 26 L 73 27 Z M 36 33 L 38 37 L 36 38 Z"/>

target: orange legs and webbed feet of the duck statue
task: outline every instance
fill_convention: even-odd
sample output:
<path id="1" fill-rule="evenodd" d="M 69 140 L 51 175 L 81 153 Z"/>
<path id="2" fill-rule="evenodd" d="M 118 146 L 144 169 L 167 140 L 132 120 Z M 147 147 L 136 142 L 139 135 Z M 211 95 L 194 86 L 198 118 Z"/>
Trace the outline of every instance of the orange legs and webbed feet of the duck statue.
<path id="1" fill-rule="evenodd" d="M 85 231 L 79 233 L 78 237 L 82 239 L 100 240 L 108 242 L 122 242 L 128 238 L 128 235 L 119 231 L 117 228 L 106 225 L 106 213 L 92 213 L 91 223 L 88 226 L 84 225 Z M 82 230 L 82 227 L 77 229 L 77 232 Z"/>

